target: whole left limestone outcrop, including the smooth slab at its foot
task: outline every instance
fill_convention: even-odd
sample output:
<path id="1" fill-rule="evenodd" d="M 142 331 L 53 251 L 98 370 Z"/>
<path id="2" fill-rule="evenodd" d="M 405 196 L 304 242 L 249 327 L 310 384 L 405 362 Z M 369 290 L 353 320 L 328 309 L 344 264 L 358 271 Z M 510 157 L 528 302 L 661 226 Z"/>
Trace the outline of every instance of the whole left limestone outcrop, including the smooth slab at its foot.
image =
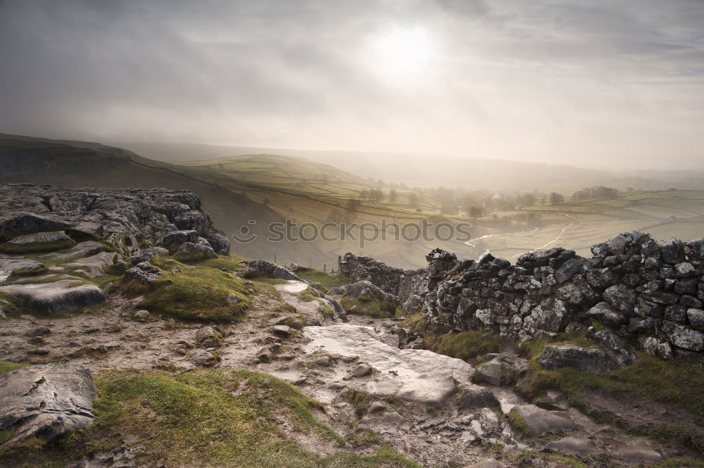
<path id="1" fill-rule="evenodd" d="M 87 267 L 89 277 L 119 263 L 128 278 L 149 284 L 162 276 L 149 263 L 155 255 L 195 259 L 229 253 L 227 237 L 213 229 L 200 206 L 185 190 L 0 184 L 0 282 L 5 283 L 0 292 L 42 312 L 68 312 L 101 303 L 105 295 L 98 286 L 63 274 L 63 267 L 46 267 L 44 258 L 74 259 L 65 266 Z M 11 273 L 32 276 L 7 284 Z"/>

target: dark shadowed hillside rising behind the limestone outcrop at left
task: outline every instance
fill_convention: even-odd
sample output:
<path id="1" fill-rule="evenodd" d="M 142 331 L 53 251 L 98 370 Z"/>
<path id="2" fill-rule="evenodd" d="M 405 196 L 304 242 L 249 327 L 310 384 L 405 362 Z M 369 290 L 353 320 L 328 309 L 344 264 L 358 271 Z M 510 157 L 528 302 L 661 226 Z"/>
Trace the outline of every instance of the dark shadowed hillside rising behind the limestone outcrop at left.
<path id="1" fill-rule="evenodd" d="M 215 226 L 227 234 L 257 220 L 255 232 L 266 236 L 266 226 L 283 222 L 270 208 L 219 184 L 217 175 L 202 173 L 143 158 L 131 151 L 87 141 L 63 141 L 0 134 L 0 181 L 54 184 L 67 187 L 135 187 L 189 189 L 201 198 Z M 294 261 L 322 258 L 314 244 L 233 243 L 232 251 L 251 258 Z M 297 257 L 290 257 L 289 252 Z"/>

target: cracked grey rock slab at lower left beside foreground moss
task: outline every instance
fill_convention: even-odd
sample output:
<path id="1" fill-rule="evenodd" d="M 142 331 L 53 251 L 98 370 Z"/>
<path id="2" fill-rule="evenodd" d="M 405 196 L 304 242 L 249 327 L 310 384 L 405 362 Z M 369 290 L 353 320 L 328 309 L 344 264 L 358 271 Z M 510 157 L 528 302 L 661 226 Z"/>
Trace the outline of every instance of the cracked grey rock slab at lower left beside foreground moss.
<path id="1" fill-rule="evenodd" d="M 0 377 L 0 430 L 12 428 L 7 447 L 37 436 L 53 441 L 85 429 L 98 397 L 90 370 L 75 365 L 23 367 Z"/>

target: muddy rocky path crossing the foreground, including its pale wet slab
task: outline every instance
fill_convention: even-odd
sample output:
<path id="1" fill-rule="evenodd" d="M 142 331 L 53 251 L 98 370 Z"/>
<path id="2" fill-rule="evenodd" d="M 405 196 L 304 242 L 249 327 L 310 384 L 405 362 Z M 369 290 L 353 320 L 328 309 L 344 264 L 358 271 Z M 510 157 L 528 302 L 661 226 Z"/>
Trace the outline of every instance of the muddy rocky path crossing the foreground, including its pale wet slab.
<path id="1" fill-rule="evenodd" d="M 498 460 L 496 466 L 519 467 L 524 450 L 539 452 L 565 437 L 582 445 L 560 450 L 589 467 L 615 466 L 604 460 L 636 466 L 681 455 L 677 448 L 597 424 L 559 395 L 551 410 L 574 422 L 572 429 L 527 438 L 503 415 L 526 403 L 512 386 L 478 386 L 471 382 L 477 370 L 463 360 L 401 349 L 398 320 L 350 315 L 348 322 L 291 326 L 301 316 L 320 315 L 320 301 L 301 296 L 307 286 L 248 285 L 247 317 L 218 327 L 145 316 L 119 295 L 111 297 L 113 308 L 79 315 L 10 317 L 2 322 L 0 359 L 76 362 L 94 372 L 125 367 L 187 372 L 204 366 L 265 372 L 325 404 L 317 417 L 349 441 L 346 450 L 374 453 L 387 444 L 425 467 L 463 467 L 487 457 Z M 498 405 L 477 404 L 474 397 L 484 391 Z M 321 455 L 339 450 L 303 434 L 288 435 Z M 543 467 L 563 466 L 539 461 Z"/>

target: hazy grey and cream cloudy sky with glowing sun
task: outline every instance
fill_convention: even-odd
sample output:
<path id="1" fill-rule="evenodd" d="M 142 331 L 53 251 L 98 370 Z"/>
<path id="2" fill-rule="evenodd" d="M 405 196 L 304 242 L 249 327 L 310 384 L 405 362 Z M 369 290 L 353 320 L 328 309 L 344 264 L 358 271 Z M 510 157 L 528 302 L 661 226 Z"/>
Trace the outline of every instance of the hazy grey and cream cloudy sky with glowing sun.
<path id="1" fill-rule="evenodd" d="M 704 168 L 702 0 L 0 0 L 0 132 Z"/>

